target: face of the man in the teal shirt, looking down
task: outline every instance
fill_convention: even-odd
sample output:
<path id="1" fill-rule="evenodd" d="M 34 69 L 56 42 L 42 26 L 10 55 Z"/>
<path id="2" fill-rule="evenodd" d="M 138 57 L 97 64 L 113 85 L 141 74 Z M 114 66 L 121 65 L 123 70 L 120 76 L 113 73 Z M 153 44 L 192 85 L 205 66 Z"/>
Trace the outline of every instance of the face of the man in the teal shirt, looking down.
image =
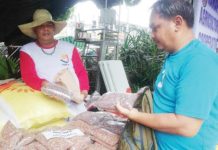
<path id="1" fill-rule="evenodd" d="M 150 17 L 150 28 L 152 38 L 159 49 L 174 51 L 173 41 L 175 39 L 175 24 L 172 20 L 161 18 L 157 13 L 152 12 Z"/>

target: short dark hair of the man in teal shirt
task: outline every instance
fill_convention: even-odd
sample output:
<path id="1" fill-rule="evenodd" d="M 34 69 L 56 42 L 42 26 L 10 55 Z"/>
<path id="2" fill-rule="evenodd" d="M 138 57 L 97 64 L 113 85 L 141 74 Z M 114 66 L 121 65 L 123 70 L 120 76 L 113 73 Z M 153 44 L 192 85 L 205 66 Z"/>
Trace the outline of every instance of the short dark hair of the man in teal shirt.
<path id="1" fill-rule="evenodd" d="M 183 17 L 187 26 L 192 28 L 194 25 L 194 9 L 190 1 L 187 0 L 158 0 L 152 6 L 152 10 L 160 17 L 171 19 L 177 15 Z"/>

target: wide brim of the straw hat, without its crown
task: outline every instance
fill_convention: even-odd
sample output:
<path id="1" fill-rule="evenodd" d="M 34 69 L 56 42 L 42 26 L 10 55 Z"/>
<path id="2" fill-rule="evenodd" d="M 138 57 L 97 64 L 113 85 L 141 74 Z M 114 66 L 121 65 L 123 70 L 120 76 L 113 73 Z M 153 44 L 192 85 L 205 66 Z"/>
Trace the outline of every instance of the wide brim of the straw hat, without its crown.
<path id="1" fill-rule="evenodd" d="M 67 23 L 65 21 L 53 21 L 53 20 L 43 20 L 43 21 L 33 21 L 30 23 L 26 23 L 26 24 L 22 24 L 19 25 L 18 28 L 21 30 L 21 32 L 31 38 L 36 39 L 36 34 L 33 31 L 33 28 L 40 26 L 46 22 L 53 22 L 55 25 L 55 31 L 54 34 L 58 34 L 61 32 L 61 30 L 67 25 Z"/>

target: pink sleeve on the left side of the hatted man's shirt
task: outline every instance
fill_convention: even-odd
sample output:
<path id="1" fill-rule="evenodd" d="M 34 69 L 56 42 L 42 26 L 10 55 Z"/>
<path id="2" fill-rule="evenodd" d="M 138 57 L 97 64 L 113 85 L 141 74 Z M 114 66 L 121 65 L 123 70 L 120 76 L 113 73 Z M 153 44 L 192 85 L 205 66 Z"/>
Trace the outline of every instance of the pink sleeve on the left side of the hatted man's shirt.
<path id="1" fill-rule="evenodd" d="M 25 52 L 20 51 L 20 71 L 22 80 L 35 90 L 41 90 L 42 82 L 38 77 L 32 58 Z"/>

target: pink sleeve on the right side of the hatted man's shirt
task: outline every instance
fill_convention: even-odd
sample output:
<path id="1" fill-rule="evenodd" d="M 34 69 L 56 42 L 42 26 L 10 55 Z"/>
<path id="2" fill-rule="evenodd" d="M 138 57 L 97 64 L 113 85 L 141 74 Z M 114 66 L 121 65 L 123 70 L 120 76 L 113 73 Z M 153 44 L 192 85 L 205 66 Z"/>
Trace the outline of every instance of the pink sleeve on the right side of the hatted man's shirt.
<path id="1" fill-rule="evenodd" d="M 81 57 L 79 55 L 79 52 L 77 48 L 74 48 L 73 50 L 73 56 L 72 56 L 72 63 L 74 66 L 75 73 L 79 79 L 80 83 L 80 90 L 87 90 L 89 91 L 89 78 L 88 74 L 86 72 L 86 69 L 83 65 L 83 62 L 81 60 Z"/>

